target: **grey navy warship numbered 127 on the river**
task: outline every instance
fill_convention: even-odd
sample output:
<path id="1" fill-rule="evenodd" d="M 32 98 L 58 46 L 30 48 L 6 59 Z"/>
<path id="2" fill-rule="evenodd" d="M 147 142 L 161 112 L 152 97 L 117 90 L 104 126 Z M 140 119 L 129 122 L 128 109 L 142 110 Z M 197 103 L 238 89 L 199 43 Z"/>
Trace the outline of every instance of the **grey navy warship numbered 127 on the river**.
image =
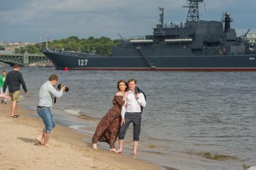
<path id="1" fill-rule="evenodd" d="M 229 12 L 221 21 L 200 20 L 202 2 L 187 0 L 186 23 L 178 25 L 164 24 L 164 9 L 159 8 L 153 35 L 123 39 L 110 56 L 50 49 L 43 53 L 59 70 L 256 71 L 255 44 L 237 37 Z"/>

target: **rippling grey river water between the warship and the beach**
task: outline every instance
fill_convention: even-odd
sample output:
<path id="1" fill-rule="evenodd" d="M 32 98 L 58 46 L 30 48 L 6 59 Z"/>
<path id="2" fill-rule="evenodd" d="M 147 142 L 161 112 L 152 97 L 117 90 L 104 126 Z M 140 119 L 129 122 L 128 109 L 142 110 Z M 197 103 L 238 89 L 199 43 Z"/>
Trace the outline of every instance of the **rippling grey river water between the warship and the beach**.
<path id="1" fill-rule="evenodd" d="M 54 105 L 56 122 L 90 136 L 112 106 L 117 81 L 135 77 L 147 95 L 138 159 L 177 169 L 230 170 L 243 169 L 243 164 L 256 165 L 254 72 L 61 71 L 32 67 L 20 68 L 20 72 L 28 88 L 20 105 L 35 111 L 40 86 L 56 73 L 59 82 L 70 88 Z M 85 141 L 91 142 L 91 138 Z M 104 143 L 99 147 L 108 149 Z M 130 153 L 132 125 L 124 150 L 124 154 Z"/>

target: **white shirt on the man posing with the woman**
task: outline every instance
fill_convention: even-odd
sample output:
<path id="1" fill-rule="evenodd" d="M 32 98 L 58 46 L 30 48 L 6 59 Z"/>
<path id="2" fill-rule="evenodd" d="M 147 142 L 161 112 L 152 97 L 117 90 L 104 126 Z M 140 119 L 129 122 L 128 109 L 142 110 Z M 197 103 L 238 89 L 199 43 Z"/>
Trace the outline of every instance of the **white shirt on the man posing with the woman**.
<path id="1" fill-rule="evenodd" d="M 132 91 L 128 91 L 126 102 L 122 106 L 121 116 L 124 118 L 126 112 L 141 112 L 141 106 L 144 108 L 146 106 L 146 100 L 142 93 L 138 94 L 139 99 L 135 99 L 134 93 Z M 126 108 L 127 104 L 127 108 Z"/>

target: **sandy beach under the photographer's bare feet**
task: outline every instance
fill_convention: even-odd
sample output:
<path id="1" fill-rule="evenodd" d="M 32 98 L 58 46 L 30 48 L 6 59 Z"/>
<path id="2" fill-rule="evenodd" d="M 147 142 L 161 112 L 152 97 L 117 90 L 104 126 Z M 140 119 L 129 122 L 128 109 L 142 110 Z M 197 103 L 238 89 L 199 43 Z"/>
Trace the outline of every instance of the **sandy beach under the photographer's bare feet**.
<path id="1" fill-rule="evenodd" d="M 10 118 L 10 102 L 0 104 L 1 169 L 162 169 L 106 150 L 93 150 L 86 136 L 67 127 L 56 126 L 51 147 L 38 145 L 35 138 L 44 125 L 34 111 L 18 106 L 19 118 Z"/>

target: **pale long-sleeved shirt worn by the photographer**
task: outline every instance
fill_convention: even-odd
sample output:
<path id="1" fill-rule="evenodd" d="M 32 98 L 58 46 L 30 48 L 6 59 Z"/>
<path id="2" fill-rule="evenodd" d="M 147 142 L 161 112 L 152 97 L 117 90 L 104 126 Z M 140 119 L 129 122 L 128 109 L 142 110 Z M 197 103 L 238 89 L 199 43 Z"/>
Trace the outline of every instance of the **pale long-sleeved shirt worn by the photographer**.
<path id="1" fill-rule="evenodd" d="M 51 108 L 54 96 L 61 97 L 62 93 L 62 90 L 57 91 L 52 86 L 52 83 L 48 80 L 47 82 L 43 83 L 40 88 L 38 106 L 45 106 L 47 108 Z"/>

